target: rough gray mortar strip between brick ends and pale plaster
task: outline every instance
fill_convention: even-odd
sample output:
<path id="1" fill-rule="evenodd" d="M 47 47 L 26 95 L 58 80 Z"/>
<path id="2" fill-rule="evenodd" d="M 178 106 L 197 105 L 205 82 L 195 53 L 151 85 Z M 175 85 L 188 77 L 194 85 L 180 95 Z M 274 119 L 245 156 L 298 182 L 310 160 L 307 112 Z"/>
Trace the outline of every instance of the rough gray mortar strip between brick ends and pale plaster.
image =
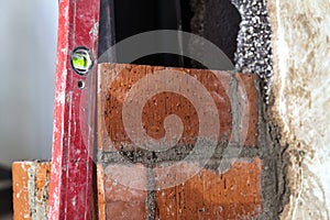
<path id="1" fill-rule="evenodd" d="M 263 161 L 261 189 L 264 210 L 256 219 L 279 219 L 284 205 L 288 202 L 286 146 L 280 145 L 280 134 L 276 125 L 268 123 L 266 105 L 262 101 L 260 80 L 255 81 L 258 94 L 258 157 Z"/>

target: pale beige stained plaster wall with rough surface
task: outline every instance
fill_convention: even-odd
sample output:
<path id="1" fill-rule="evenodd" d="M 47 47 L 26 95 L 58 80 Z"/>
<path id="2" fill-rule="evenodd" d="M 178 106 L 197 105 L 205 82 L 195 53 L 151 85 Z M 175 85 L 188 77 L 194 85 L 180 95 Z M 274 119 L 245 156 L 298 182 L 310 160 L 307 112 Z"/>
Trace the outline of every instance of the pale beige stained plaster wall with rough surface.
<path id="1" fill-rule="evenodd" d="M 271 117 L 288 144 L 290 198 L 282 219 L 330 219 L 330 1 L 270 1 Z"/>

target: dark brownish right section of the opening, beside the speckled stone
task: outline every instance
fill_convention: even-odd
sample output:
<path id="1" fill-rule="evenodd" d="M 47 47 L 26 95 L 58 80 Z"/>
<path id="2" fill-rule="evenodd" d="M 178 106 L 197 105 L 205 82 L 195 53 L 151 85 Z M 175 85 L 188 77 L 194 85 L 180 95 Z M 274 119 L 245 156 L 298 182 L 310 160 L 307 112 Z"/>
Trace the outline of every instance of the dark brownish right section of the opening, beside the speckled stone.
<path id="1" fill-rule="evenodd" d="M 241 14 L 230 0 L 189 0 L 190 33 L 216 44 L 234 64 Z M 191 46 L 191 45 L 190 45 Z M 191 62 L 193 67 L 201 68 Z"/>

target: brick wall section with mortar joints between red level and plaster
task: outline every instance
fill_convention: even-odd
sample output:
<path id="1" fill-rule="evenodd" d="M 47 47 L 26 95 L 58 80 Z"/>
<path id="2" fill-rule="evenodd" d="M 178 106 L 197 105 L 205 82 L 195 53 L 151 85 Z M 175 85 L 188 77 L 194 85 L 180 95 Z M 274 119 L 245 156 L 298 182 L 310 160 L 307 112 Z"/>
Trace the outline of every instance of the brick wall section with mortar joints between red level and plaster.
<path id="1" fill-rule="evenodd" d="M 156 77 L 152 77 L 162 72 L 184 77 L 175 76 L 168 81 L 162 78 L 154 88 L 152 84 Z M 280 197 L 277 195 L 282 194 L 283 188 L 276 182 L 282 178 L 282 164 L 277 162 L 278 152 L 267 141 L 256 77 L 120 64 L 100 65 L 99 77 L 98 189 L 101 219 L 277 217 L 280 209 Z M 206 99 L 194 102 L 183 95 L 184 89 L 180 90 L 183 94 L 169 92 L 168 84 L 185 87 L 188 82 L 186 77 L 201 82 L 216 103 L 220 129 L 215 152 L 207 161 L 201 156 L 212 151 L 208 144 L 202 145 L 196 155 L 193 151 L 199 147 L 194 144 L 200 135 L 198 132 L 202 123 L 198 119 L 196 105 L 204 105 Z M 144 78 L 148 79 L 145 85 Z M 140 96 L 147 97 L 150 90 L 166 88 L 167 91 L 151 96 L 143 106 L 141 125 L 146 135 L 161 139 L 166 135 L 164 120 L 175 113 L 183 119 L 183 135 L 170 148 L 147 148 L 143 141 L 139 142 L 139 136 L 125 131 L 128 123 L 135 123 L 135 120 L 128 116 L 129 120 L 124 122 L 127 116 L 123 109 L 132 103 L 139 108 L 141 101 L 136 99 L 144 100 Z M 130 94 L 134 89 L 140 91 L 139 97 Z M 133 116 L 139 118 L 139 112 Z M 134 128 L 130 127 L 133 131 Z M 136 128 L 139 130 L 139 124 Z M 245 135 L 242 135 L 244 132 Z M 141 133 L 139 135 L 141 140 L 145 139 Z M 238 147 L 240 142 L 237 136 L 244 139 L 241 140 L 241 148 Z M 208 139 L 207 135 L 204 138 Z M 166 142 L 170 140 L 162 140 L 161 145 L 166 145 Z"/>

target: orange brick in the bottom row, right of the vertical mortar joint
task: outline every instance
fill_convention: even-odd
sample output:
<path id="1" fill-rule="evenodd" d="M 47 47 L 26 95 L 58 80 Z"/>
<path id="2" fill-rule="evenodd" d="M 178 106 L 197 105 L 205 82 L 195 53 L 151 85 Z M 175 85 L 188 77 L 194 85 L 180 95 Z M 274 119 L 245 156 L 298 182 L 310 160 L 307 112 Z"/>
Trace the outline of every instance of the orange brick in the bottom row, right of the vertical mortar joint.
<path id="1" fill-rule="evenodd" d="M 258 158 L 237 161 L 224 174 L 204 168 L 180 185 L 156 190 L 156 219 L 252 219 L 263 209 L 261 170 Z"/>

